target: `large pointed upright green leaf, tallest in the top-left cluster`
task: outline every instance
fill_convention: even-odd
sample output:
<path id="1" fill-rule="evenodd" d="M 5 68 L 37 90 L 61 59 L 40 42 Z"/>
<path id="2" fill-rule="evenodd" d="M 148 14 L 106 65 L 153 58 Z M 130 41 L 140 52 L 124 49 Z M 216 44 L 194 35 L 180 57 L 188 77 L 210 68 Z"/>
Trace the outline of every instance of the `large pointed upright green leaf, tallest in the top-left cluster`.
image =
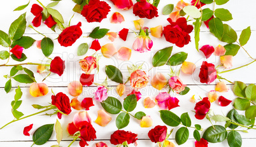
<path id="1" fill-rule="evenodd" d="M 14 20 L 14 22 L 11 24 L 9 29 L 9 36 L 11 40 L 17 40 L 23 36 L 27 24 L 25 14 L 26 13 L 20 15 L 20 17 L 18 17 L 17 20 Z"/>

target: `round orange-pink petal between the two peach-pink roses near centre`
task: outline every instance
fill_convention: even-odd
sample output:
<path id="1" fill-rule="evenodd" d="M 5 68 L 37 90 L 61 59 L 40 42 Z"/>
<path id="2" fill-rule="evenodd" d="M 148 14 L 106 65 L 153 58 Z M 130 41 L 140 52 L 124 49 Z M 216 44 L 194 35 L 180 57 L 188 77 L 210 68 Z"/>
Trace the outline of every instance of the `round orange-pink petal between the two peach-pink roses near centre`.
<path id="1" fill-rule="evenodd" d="M 153 79 L 151 81 L 151 85 L 153 88 L 156 88 L 157 90 L 161 90 L 164 88 L 167 84 L 166 77 L 162 73 L 157 73 L 155 76 L 153 76 Z"/>

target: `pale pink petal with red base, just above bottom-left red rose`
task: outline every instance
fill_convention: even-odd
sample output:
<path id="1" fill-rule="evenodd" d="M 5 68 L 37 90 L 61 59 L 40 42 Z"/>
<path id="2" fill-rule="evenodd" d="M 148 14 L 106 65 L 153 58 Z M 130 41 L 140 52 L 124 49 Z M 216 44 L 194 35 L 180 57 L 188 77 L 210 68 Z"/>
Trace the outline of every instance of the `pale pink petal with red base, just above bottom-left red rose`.
<path id="1" fill-rule="evenodd" d="M 73 118 L 73 123 L 75 124 L 76 127 L 81 129 L 83 123 L 82 122 L 89 122 L 92 123 L 92 119 L 90 118 L 89 114 L 87 111 L 79 111 L 74 115 Z"/>

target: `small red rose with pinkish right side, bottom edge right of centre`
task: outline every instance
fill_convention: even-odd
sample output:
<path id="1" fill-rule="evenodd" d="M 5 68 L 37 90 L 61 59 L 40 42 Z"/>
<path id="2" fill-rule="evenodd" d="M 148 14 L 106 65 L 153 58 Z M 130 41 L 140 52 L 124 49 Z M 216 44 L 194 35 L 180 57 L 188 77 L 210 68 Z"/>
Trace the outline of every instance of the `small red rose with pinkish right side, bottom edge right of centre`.
<path id="1" fill-rule="evenodd" d="M 148 137 L 153 143 L 162 142 L 166 139 L 167 127 L 157 125 L 148 132 Z"/>

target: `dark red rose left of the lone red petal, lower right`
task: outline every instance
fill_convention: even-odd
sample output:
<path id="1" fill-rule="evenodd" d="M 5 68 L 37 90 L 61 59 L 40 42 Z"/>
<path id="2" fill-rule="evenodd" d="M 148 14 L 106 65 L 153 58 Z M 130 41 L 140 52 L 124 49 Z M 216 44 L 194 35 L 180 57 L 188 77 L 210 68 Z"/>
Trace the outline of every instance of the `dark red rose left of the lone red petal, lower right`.
<path id="1" fill-rule="evenodd" d="M 198 120 L 203 120 L 208 111 L 210 110 L 211 102 L 208 100 L 208 97 L 204 97 L 202 101 L 196 103 L 196 118 Z"/>

